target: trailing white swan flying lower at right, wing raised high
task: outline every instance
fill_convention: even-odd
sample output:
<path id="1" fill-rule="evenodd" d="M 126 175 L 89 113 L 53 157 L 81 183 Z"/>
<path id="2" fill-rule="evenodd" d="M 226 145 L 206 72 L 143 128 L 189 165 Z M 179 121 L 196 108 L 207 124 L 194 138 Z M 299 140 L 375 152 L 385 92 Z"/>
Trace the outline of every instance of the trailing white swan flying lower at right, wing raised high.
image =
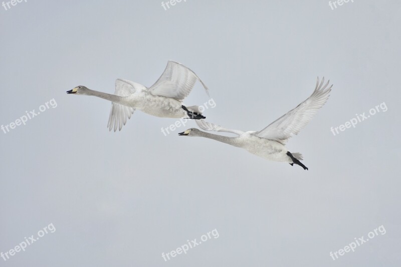
<path id="1" fill-rule="evenodd" d="M 261 131 L 243 132 L 240 130 L 225 129 L 220 125 L 208 123 L 204 120 L 196 121 L 196 124 L 207 131 L 228 132 L 238 135 L 238 137 L 228 137 L 217 134 L 211 134 L 200 131 L 196 128 L 190 128 L 178 135 L 181 136 L 200 136 L 227 143 L 236 147 L 241 147 L 252 154 L 265 158 L 267 160 L 288 162 L 292 166 L 300 165 L 307 170 L 308 168 L 300 162 L 302 155 L 300 153 L 291 153 L 285 147 L 289 138 L 299 133 L 306 124 L 316 114 L 327 101 L 331 87 L 327 87 L 329 81 L 323 86 L 324 78 L 319 84 L 319 77 L 315 91 L 310 97 L 299 104 L 296 108 L 290 110 Z"/>

